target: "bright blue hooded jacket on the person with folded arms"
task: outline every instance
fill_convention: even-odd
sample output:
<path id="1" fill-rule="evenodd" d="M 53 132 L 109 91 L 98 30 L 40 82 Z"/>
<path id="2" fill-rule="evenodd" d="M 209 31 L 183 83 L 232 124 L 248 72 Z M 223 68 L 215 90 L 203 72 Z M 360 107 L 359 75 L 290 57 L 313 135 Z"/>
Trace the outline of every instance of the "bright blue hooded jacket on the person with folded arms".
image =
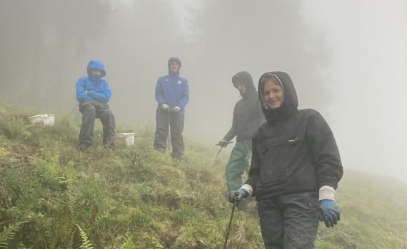
<path id="1" fill-rule="evenodd" d="M 101 78 L 92 78 L 91 69 L 96 68 L 102 71 Z M 89 61 L 88 76 L 79 78 L 76 83 L 76 100 L 86 102 L 90 100 L 99 100 L 100 102 L 109 102 L 111 97 L 111 89 L 106 80 L 102 79 L 106 75 L 104 65 L 99 60 Z M 87 92 L 87 94 L 85 93 Z"/>

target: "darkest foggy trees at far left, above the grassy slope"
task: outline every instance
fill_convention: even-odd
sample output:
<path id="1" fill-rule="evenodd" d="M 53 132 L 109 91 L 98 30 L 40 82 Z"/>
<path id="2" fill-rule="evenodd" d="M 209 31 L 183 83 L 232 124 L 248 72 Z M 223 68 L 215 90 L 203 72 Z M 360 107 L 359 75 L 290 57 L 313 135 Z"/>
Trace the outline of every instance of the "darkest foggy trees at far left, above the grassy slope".
<path id="1" fill-rule="evenodd" d="M 29 105 L 66 101 L 71 63 L 101 38 L 109 11 L 107 0 L 0 1 L 1 97 Z"/>

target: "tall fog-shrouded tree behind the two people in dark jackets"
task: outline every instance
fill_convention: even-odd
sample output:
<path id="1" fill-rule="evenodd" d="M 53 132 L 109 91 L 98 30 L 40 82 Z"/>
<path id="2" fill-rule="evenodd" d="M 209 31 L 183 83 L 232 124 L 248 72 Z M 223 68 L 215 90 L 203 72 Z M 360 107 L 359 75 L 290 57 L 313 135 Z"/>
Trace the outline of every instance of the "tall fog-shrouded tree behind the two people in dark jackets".
<path id="1" fill-rule="evenodd" d="M 207 81 L 227 85 L 238 70 L 251 70 L 255 80 L 283 70 L 296 83 L 301 107 L 328 105 L 323 70 L 331 56 L 323 33 L 306 25 L 300 1 L 208 0 L 190 22 L 200 48 L 196 67 L 209 72 Z M 211 89 L 201 91 L 210 95 Z"/>

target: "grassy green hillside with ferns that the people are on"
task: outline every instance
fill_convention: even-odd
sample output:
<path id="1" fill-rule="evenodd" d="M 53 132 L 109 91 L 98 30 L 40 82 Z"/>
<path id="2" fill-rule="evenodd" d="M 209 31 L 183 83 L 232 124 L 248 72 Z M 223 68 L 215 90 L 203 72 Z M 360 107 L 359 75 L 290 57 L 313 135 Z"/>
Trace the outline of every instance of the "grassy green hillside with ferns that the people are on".
<path id="1" fill-rule="evenodd" d="M 131 127 L 135 147 L 77 150 L 79 122 L 0 105 L 0 248 L 222 248 L 231 204 L 218 148 L 186 141 L 186 161 L 152 149 L 154 130 Z M 321 226 L 316 248 L 407 248 L 405 183 L 345 171 L 336 194 L 341 221 Z M 263 248 L 258 217 L 235 212 L 228 248 Z"/>

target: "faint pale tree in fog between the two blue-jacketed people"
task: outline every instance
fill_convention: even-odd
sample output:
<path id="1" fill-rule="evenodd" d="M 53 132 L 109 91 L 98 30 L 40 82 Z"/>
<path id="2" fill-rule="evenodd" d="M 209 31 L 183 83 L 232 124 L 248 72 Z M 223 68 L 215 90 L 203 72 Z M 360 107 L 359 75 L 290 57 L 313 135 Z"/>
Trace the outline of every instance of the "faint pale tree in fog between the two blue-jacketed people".
<path id="1" fill-rule="evenodd" d="M 106 70 L 113 91 L 111 105 L 118 120 L 154 120 L 154 88 L 159 76 L 168 73 L 167 60 L 179 56 L 185 62 L 179 53 L 186 43 L 179 22 L 170 1 L 140 0 L 130 6 L 116 3 L 109 33 L 99 49 L 106 48 L 104 55 L 109 58 Z M 183 71 L 184 67 L 181 74 Z"/>

